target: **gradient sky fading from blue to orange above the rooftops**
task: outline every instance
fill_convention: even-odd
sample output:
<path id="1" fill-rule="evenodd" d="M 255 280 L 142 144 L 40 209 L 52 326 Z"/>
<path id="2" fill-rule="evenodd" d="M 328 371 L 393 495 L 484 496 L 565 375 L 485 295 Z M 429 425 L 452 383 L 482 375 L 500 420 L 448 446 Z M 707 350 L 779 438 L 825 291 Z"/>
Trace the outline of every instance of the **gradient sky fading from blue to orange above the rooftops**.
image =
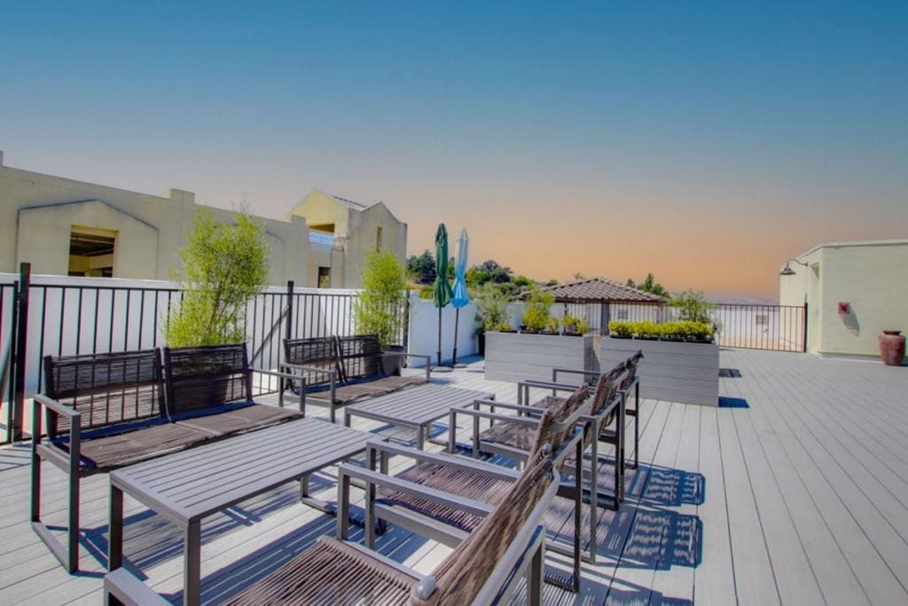
<path id="1" fill-rule="evenodd" d="M 146 6 L 147 5 L 147 6 Z M 518 273 L 775 298 L 908 237 L 908 3 L 0 0 L 5 164 L 281 217 L 313 187 Z"/>

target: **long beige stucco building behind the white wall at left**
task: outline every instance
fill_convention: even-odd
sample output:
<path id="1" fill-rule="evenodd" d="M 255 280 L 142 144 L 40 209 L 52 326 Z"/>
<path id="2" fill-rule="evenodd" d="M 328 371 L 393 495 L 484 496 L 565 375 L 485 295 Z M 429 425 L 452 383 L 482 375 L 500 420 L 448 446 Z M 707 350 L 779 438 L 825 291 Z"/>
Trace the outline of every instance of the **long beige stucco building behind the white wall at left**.
<path id="1" fill-rule="evenodd" d="M 28 262 L 33 273 L 171 279 L 199 206 L 183 190 L 139 194 L 11 168 L 0 152 L 0 272 Z M 282 221 L 253 218 L 271 246 L 271 284 L 357 288 L 369 251 L 405 260 L 407 224 L 381 202 L 313 190 Z"/>

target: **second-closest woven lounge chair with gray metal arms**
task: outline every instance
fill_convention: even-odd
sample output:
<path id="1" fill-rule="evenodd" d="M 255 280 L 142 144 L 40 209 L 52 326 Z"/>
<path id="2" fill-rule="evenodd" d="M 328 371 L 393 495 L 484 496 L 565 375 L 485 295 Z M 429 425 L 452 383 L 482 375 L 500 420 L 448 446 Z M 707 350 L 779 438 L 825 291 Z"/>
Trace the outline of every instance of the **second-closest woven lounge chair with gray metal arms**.
<path id="1" fill-rule="evenodd" d="M 573 544 L 566 547 L 548 541 L 548 549 L 573 557 L 573 570 L 568 579 L 547 574 L 547 581 L 569 591 L 578 591 L 581 562 L 582 475 L 579 461 L 582 454 L 582 433 L 577 421 L 586 411 L 588 388 L 583 385 L 567 400 L 536 417 L 504 416 L 480 412 L 479 416 L 495 420 L 516 420 L 532 427 L 535 440 L 527 457 L 532 461 L 544 444 L 552 448 L 556 468 L 560 469 L 568 455 L 574 453 L 577 478 L 574 486 L 559 485 L 558 495 L 574 501 L 575 532 Z M 537 412 L 538 409 L 536 409 Z M 387 474 L 388 458 L 404 456 L 415 464 L 396 476 Z M 430 453 L 398 446 L 390 442 L 372 442 L 367 450 L 370 470 L 341 465 L 341 472 L 366 484 L 366 546 L 375 541 L 376 524 L 399 524 L 412 531 L 449 545 L 456 545 L 467 534 L 475 532 L 483 518 L 501 506 L 517 472 L 487 462 L 474 461 L 447 453 Z M 380 466 L 380 472 L 376 471 Z M 380 528 L 381 530 L 381 528 Z"/>

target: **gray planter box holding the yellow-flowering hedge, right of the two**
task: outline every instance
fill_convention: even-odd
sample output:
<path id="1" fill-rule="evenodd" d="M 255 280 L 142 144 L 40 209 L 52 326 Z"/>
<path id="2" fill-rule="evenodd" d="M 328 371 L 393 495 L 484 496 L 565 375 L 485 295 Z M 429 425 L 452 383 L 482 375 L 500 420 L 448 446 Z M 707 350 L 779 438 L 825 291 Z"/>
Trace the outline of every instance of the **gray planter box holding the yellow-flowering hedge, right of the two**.
<path id="1" fill-rule="evenodd" d="M 640 397 L 703 406 L 719 405 L 719 347 L 716 343 L 675 343 L 603 337 L 599 364 L 611 368 L 640 350 Z"/>

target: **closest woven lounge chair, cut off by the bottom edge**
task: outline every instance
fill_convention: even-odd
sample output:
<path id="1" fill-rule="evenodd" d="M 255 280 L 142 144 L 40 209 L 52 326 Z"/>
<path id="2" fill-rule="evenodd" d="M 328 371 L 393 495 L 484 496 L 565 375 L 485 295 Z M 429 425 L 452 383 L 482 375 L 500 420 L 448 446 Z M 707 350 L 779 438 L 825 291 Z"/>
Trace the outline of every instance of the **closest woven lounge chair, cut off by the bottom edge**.
<path id="1" fill-rule="evenodd" d="M 507 603 L 526 578 L 526 598 L 541 603 L 545 531 L 540 525 L 558 486 L 549 449 L 509 484 L 502 504 L 426 576 L 346 541 L 321 537 L 280 570 L 227 603 L 258 604 L 492 604 Z M 341 475 L 341 491 L 350 490 Z M 341 498 L 339 502 L 344 502 Z M 349 501 L 348 501 L 349 502 Z"/>

